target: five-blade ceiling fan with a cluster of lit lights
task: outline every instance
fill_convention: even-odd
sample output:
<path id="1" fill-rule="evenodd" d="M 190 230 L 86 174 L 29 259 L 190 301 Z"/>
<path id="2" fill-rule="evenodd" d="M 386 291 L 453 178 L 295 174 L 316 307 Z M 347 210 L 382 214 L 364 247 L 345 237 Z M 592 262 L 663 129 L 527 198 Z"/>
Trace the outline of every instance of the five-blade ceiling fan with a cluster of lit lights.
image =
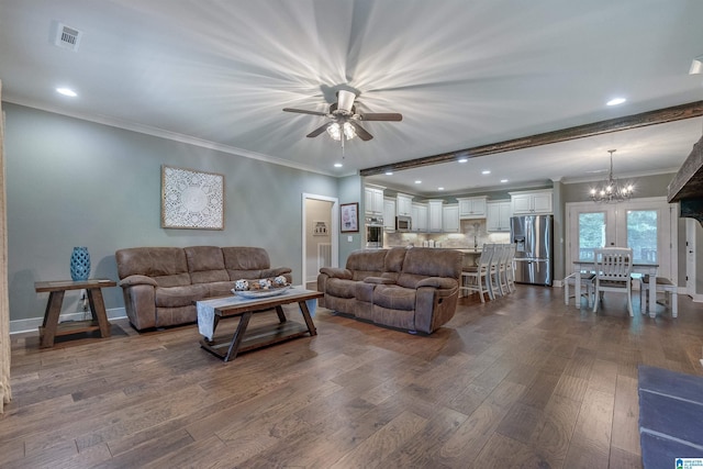
<path id="1" fill-rule="evenodd" d="M 354 100 L 356 93 L 348 90 L 337 91 L 337 102 L 330 105 L 330 112 L 306 111 L 304 109 L 283 108 L 286 112 L 298 112 L 300 114 L 323 115 L 327 119 L 332 119 L 332 122 L 327 122 L 324 125 L 315 129 L 306 136 L 310 138 L 316 137 L 321 133 L 327 131 L 330 136 L 336 141 L 350 139 L 356 135 L 362 141 L 370 141 L 373 135 L 369 134 L 359 122 L 361 121 L 394 121 L 399 122 L 403 120 L 403 116 L 397 112 L 369 112 L 357 113 Z"/>

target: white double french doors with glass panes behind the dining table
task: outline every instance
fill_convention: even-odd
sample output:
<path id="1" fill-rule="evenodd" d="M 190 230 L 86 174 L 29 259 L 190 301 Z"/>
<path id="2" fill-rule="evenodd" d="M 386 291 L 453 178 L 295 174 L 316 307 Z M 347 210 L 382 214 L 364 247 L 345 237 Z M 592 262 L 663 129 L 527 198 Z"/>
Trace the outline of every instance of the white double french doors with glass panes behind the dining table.
<path id="1" fill-rule="evenodd" d="M 567 203 L 566 272 L 574 260 L 592 260 L 593 248 L 633 248 L 635 263 L 659 264 L 657 275 L 677 281 L 676 205 L 665 198 L 596 204 Z"/>

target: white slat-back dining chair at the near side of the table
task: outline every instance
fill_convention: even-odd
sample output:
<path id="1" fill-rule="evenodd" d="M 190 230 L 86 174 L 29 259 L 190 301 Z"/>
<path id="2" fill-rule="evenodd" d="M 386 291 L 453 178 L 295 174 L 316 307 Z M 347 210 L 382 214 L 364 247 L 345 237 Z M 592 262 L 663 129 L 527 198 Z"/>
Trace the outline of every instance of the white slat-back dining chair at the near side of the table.
<path id="1" fill-rule="evenodd" d="M 595 300 L 593 312 L 603 300 L 603 292 L 611 291 L 627 294 L 627 312 L 633 316 L 632 278 L 633 249 L 625 247 L 604 247 L 593 249 L 595 269 Z"/>

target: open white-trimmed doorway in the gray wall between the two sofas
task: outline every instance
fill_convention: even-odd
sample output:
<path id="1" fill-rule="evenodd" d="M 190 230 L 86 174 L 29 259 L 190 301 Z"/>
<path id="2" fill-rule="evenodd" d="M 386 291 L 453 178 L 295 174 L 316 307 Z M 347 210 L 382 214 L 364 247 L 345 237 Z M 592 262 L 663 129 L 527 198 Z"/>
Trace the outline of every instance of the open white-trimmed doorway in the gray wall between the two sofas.
<path id="1" fill-rule="evenodd" d="M 315 289 L 320 268 L 338 266 L 338 201 L 303 193 L 302 204 L 302 282 L 304 287 Z"/>

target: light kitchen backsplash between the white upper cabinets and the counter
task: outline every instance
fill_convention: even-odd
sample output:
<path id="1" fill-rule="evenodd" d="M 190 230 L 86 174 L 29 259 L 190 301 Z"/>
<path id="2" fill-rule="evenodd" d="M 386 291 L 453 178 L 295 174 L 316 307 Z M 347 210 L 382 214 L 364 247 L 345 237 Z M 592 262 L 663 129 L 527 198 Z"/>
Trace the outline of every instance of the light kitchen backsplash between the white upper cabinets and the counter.
<path id="1" fill-rule="evenodd" d="M 486 231 L 486 220 L 461 220 L 460 233 L 393 233 L 383 234 L 383 247 L 417 246 L 433 241 L 435 247 L 455 249 L 471 248 L 486 243 L 510 243 L 510 233 L 489 233 Z"/>

